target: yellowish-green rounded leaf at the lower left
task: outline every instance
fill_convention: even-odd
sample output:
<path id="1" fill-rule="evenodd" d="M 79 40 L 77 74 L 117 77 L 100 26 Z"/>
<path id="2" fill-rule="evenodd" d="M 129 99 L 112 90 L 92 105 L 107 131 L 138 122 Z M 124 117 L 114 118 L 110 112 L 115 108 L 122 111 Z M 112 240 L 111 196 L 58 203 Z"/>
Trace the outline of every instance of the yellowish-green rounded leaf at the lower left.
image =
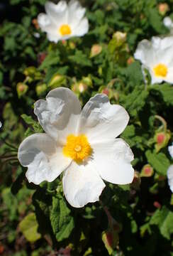
<path id="1" fill-rule="evenodd" d="M 19 229 L 29 242 L 35 242 L 41 237 L 40 233 L 38 233 L 38 223 L 35 213 L 30 213 L 23 218 L 19 223 Z"/>

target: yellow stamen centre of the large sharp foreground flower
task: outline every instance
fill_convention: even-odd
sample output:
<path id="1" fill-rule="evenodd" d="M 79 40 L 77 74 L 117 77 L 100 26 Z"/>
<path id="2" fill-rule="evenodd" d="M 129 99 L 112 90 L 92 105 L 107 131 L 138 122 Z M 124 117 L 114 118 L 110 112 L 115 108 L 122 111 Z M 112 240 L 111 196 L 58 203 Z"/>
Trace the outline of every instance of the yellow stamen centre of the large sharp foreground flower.
<path id="1" fill-rule="evenodd" d="M 69 134 L 62 151 L 65 156 L 71 157 L 77 163 L 86 160 L 92 153 L 91 146 L 84 134 L 78 136 Z"/>

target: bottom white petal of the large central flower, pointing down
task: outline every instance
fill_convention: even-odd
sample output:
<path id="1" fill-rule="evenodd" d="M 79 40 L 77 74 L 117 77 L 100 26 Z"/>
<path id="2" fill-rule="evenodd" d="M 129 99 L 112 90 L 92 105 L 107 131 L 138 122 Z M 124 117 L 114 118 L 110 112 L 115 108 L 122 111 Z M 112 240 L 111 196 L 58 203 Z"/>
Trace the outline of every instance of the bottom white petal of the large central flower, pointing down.
<path id="1" fill-rule="evenodd" d="M 105 188 L 104 181 L 89 163 L 79 165 L 72 162 L 65 171 L 62 184 L 67 201 L 77 208 L 99 201 L 99 196 Z"/>

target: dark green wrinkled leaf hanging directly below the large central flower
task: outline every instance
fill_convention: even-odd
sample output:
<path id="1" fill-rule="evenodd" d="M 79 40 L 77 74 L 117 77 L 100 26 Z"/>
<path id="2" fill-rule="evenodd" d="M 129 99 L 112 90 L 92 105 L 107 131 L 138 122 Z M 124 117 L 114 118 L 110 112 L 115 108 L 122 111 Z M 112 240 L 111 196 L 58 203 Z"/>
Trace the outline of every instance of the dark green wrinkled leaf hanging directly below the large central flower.
<path id="1" fill-rule="evenodd" d="M 58 242 L 68 238 L 72 233 L 74 220 L 63 198 L 52 198 L 50 221 Z"/>

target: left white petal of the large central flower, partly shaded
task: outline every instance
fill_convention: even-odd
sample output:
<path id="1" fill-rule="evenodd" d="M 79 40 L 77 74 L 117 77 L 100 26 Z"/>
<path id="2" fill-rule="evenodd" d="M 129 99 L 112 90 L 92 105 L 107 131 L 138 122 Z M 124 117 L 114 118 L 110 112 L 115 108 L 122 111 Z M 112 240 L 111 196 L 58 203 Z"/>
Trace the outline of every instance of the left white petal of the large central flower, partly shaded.
<path id="1" fill-rule="evenodd" d="M 47 134 L 33 134 L 24 139 L 18 148 L 18 160 L 28 166 L 26 177 L 35 184 L 54 181 L 71 162 Z"/>

